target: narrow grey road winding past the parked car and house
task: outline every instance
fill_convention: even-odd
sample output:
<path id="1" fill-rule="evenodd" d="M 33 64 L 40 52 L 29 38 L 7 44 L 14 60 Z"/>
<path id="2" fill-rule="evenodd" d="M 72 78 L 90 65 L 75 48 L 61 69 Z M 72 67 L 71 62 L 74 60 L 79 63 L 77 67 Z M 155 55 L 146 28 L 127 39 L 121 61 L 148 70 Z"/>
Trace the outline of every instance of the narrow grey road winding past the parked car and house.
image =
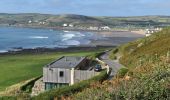
<path id="1" fill-rule="evenodd" d="M 109 79 L 112 79 L 118 70 L 123 67 L 122 64 L 119 63 L 119 57 L 117 60 L 111 60 L 109 58 L 109 51 L 105 52 L 103 55 L 100 56 L 100 60 L 105 62 L 110 68 L 112 68 L 112 72 L 110 74 Z"/>

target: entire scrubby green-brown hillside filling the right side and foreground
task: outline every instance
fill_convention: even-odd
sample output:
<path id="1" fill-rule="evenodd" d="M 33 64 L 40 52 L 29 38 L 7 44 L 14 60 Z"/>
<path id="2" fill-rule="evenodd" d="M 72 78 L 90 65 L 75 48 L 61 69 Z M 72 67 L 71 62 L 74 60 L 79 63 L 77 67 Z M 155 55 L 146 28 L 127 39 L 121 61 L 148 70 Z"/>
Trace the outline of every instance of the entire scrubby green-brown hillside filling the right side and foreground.
<path id="1" fill-rule="evenodd" d="M 119 48 L 124 77 L 95 84 L 69 99 L 169 100 L 170 28 Z"/>

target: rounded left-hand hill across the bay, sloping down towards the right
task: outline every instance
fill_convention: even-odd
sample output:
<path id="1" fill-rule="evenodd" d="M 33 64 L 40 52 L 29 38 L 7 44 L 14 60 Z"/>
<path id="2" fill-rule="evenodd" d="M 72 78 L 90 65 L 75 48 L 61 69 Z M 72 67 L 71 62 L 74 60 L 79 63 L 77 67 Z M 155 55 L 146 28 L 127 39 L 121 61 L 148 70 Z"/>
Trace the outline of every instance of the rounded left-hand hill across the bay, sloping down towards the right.
<path id="1" fill-rule="evenodd" d="M 44 24 L 42 24 L 43 22 Z M 74 24 L 75 26 L 99 26 L 107 24 L 100 19 L 83 15 L 0 14 L 0 24 L 62 26 L 64 23 Z"/>

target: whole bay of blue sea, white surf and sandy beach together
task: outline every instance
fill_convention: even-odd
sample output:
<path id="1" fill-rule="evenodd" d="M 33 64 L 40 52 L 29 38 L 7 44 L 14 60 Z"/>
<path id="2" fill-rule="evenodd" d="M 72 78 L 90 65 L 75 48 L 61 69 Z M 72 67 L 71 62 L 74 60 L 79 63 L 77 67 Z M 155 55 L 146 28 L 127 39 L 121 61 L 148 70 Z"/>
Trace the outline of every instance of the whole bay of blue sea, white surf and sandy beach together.
<path id="1" fill-rule="evenodd" d="M 144 37 L 130 31 L 91 32 L 16 27 L 0 27 L 0 33 L 1 54 L 115 47 Z"/>

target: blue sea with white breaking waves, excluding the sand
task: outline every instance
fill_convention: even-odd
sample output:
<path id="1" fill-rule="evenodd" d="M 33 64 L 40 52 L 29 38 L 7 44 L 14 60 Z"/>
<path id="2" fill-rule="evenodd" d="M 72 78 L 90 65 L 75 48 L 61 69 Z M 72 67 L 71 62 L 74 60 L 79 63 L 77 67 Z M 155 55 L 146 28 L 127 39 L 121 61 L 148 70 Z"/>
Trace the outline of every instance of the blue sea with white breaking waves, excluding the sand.
<path id="1" fill-rule="evenodd" d="M 34 48 L 67 48 L 100 39 L 95 32 L 0 27 L 0 52 Z"/>

